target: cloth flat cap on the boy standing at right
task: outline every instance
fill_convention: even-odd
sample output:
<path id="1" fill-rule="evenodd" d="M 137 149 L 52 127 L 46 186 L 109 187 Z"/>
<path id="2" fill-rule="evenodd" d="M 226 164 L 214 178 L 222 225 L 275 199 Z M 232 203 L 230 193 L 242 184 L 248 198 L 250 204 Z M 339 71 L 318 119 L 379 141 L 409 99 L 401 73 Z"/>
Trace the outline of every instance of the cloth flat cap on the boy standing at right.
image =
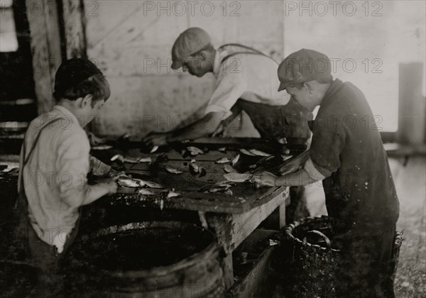
<path id="1" fill-rule="evenodd" d="M 332 75 L 332 64 L 329 57 L 316 50 L 302 49 L 291 53 L 278 67 L 281 91 L 289 84 L 326 79 Z"/>

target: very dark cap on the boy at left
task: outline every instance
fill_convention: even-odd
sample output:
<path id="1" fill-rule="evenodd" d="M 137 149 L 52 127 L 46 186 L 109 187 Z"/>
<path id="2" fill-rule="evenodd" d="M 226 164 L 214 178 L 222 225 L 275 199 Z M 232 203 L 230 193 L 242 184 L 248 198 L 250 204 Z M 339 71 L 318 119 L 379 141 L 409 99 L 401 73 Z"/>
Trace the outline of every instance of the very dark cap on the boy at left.
<path id="1" fill-rule="evenodd" d="M 102 75 L 102 72 L 90 60 L 73 58 L 62 62 L 55 75 L 55 98 L 97 74 Z"/>

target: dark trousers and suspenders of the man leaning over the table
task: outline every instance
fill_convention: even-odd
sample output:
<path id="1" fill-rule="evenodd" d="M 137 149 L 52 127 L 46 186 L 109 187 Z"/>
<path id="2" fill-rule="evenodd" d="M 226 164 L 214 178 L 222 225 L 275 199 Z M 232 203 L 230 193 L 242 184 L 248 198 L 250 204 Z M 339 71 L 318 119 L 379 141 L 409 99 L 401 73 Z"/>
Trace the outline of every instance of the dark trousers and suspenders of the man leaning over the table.
<path id="1" fill-rule="evenodd" d="M 239 48 L 240 51 L 224 57 L 221 61 L 221 65 L 227 59 L 237 54 L 266 56 L 258 50 L 239 44 L 222 45 L 219 49 L 226 46 Z M 310 139 L 311 131 L 308 126 L 308 121 L 312 121 L 312 113 L 303 109 L 293 98 L 290 99 L 288 104 L 283 106 L 270 106 L 268 104 L 239 99 L 236 101 L 231 111 L 234 116 L 241 111 L 245 111 L 249 115 L 253 126 L 261 135 L 261 138 L 265 140 L 287 138 L 297 139 L 298 143 L 307 143 Z M 226 122 L 229 123 L 232 119 L 233 116 L 230 116 Z M 287 222 L 310 215 L 306 208 L 306 198 L 303 196 L 304 190 L 305 187 L 290 187 L 290 205 L 286 209 Z"/>

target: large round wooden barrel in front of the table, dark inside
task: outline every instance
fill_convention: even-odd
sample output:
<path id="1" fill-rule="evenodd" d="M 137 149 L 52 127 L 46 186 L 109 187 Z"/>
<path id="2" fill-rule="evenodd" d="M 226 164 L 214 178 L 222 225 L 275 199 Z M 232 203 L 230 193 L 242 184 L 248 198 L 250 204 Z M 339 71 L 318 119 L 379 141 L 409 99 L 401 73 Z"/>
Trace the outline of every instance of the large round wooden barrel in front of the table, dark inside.
<path id="1" fill-rule="evenodd" d="M 214 235 L 153 221 L 83 236 L 67 258 L 67 289 L 84 297 L 224 297 Z"/>

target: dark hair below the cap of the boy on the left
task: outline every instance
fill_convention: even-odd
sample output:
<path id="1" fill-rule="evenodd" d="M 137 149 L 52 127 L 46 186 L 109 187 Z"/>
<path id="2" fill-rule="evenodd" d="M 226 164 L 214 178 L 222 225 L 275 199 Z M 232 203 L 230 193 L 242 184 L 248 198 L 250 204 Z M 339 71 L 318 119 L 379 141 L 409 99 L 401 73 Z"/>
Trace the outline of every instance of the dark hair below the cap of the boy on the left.
<path id="1" fill-rule="evenodd" d="M 62 92 L 61 92 L 62 93 Z M 55 92 L 53 96 L 59 101 L 60 99 L 77 100 L 87 94 L 92 94 L 92 107 L 99 100 L 107 101 L 111 96 L 111 89 L 107 79 L 102 74 L 92 75 L 77 86 L 66 89 L 63 94 Z"/>

